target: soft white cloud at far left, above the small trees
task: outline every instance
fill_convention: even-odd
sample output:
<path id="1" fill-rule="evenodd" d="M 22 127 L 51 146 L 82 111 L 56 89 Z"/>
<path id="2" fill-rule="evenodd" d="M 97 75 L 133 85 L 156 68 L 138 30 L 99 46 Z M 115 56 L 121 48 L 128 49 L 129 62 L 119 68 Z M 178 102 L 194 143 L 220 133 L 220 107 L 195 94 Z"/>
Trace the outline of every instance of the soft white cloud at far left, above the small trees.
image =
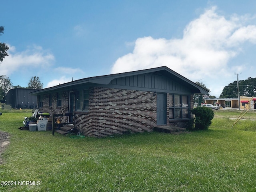
<path id="1" fill-rule="evenodd" d="M 43 50 L 40 46 L 28 47 L 25 51 L 17 52 L 15 46 L 9 45 L 8 55 L 0 64 L 1 74 L 11 75 L 24 69 L 36 69 L 49 66 L 54 61 L 53 54 Z"/>

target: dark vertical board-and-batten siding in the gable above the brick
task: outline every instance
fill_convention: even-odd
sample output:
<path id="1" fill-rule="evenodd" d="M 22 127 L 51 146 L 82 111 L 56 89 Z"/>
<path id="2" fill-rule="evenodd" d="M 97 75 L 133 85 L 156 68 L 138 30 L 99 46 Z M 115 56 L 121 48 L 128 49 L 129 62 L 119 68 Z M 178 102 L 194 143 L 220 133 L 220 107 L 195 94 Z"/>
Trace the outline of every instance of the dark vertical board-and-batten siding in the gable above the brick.
<path id="1" fill-rule="evenodd" d="M 148 88 L 154 90 L 162 90 L 162 92 L 176 91 L 180 93 L 189 93 L 190 90 L 182 84 L 156 74 L 140 74 L 127 76 L 123 78 L 115 78 L 110 82 L 111 85 L 127 86 L 137 88 Z M 144 90 L 144 89 L 143 89 Z"/>

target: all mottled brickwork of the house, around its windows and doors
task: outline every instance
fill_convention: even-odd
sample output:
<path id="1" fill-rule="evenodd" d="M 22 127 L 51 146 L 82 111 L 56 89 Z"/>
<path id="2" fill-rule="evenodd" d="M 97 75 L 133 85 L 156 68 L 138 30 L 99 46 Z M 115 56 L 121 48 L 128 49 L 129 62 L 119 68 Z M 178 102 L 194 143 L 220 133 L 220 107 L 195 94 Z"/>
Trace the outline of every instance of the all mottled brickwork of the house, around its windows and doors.
<path id="1" fill-rule="evenodd" d="M 64 114 L 68 112 L 69 92 L 62 92 L 62 106 L 57 107 L 57 93 L 52 94 L 52 106 L 49 107 L 49 94 L 43 96 L 43 112 Z M 74 111 L 75 111 L 74 92 Z M 167 102 L 168 104 L 168 94 Z M 193 96 L 190 106 L 193 108 Z M 168 106 L 167 106 L 168 108 Z M 168 117 L 168 110 L 167 110 Z M 193 118 L 193 115 L 191 115 Z M 67 117 L 62 117 L 67 122 Z M 75 112 L 75 128 L 84 135 L 104 137 L 124 132 L 152 131 L 156 126 L 156 95 L 153 92 L 93 87 L 89 89 L 89 111 Z M 172 120 L 170 126 L 187 128 L 191 119 Z"/>

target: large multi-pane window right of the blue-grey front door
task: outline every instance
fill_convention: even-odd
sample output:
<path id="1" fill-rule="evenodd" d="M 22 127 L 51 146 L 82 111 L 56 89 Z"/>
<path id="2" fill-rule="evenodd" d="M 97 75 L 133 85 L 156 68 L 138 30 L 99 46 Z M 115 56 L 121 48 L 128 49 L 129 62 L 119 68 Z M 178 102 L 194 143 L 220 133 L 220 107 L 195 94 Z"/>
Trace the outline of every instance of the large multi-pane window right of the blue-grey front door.
<path id="1" fill-rule="evenodd" d="M 189 118 L 189 100 L 187 95 L 169 94 L 169 119 Z"/>

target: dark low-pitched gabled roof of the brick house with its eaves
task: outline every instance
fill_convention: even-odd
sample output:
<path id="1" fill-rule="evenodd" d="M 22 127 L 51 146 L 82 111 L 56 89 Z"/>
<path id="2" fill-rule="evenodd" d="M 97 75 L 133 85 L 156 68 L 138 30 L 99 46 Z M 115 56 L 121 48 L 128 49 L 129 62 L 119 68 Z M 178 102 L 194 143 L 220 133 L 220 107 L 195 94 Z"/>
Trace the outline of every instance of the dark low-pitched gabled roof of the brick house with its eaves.
<path id="1" fill-rule="evenodd" d="M 35 92 L 30 93 L 31 95 L 38 95 L 45 92 L 51 92 L 53 90 L 65 90 L 68 89 L 70 86 L 78 86 L 79 84 L 103 84 L 107 85 L 115 78 L 122 78 L 127 76 L 133 76 L 133 75 L 140 75 L 140 74 L 157 74 L 157 75 L 163 75 L 163 76 L 171 76 L 171 78 L 180 84 L 183 84 L 184 86 L 190 87 L 192 92 L 194 94 L 208 94 L 208 91 L 202 88 L 201 86 L 195 84 L 194 82 L 188 80 L 184 76 L 176 73 L 175 71 L 171 70 L 170 68 L 166 66 L 157 67 L 157 68 L 150 68 L 150 69 L 144 69 L 144 70 L 138 70 L 138 71 L 132 71 L 132 72 L 123 72 L 118 74 L 110 74 L 110 75 L 103 75 L 103 76 L 95 76 L 95 77 L 89 77 L 89 78 L 83 78 L 80 80 L 75 80 L 72 82 L 64 83 L 61 85 L 41 89 Z"/>

